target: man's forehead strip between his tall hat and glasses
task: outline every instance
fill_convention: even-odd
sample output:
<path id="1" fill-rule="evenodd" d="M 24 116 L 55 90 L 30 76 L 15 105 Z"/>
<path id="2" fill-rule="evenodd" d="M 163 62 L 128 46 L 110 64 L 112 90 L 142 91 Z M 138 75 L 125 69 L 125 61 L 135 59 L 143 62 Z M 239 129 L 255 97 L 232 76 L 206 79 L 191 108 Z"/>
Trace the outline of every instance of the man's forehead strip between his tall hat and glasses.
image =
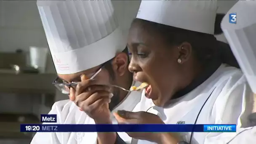
<path id="1" fill-rule="evenodd" d="M 61 79 L 61 80 L 64 80 L 66 82 L 78 82 L 78 81 L 81 81 L 81 75 L 85 75 L 87 77 L 91 77 L 97 69 L 99 69 L 100 66 L 96 66 L 96 67 L 93 67 L 91 69 L 87 69 L 85 71 L 82 71 L 82 72 L 77 72 L 77 73 L 74 73 L 74 74 L 65 74 L 65 75 L 61 75 L 61 74 L 58 74 L 58 77 Z"/>

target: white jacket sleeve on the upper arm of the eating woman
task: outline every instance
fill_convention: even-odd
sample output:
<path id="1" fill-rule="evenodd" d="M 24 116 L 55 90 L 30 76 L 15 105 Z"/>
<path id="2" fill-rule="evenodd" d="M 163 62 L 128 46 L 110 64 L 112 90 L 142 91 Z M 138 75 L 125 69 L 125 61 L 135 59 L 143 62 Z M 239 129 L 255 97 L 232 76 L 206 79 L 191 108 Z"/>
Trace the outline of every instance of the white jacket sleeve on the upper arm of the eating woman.
<path id="1" fill-rule="evenodd" d="M 242 131 L 241 128 L 246 128 L 250 125 L 248 116 L 251 114 L 252 109 L 253 92 L 245 77 L 230 78 L 216 99 L 212 112 L 215 113 L 215 124 L 236 124 L 237 132 L 208 133 L 205 137 L 204 144 L 227 144 L 232 139 L 232 142 L 236 144 L 235 141 L 237 138 L 234 138 L 236 136 L 242 136 L 238 135 Z M 246 132 L 243 133 L 245 134 Z M 238 138 L 237 140 L 241 141 L 245 139 Z M 240 144 L 245 144 L 245 142 L 241 142 Z"/>

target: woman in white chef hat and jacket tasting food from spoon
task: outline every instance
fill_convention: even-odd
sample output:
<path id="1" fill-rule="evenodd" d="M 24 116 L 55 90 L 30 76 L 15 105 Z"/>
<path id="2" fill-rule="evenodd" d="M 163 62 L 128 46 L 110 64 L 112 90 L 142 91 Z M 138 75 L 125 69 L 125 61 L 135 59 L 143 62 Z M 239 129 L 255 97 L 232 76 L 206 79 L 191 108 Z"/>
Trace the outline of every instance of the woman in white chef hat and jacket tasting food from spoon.
<path id="1" fill-rule="evenodd" d="M 219 58 L 213 36 L 216 8 L 215 0 L 141 2 L 128 36 L 129 70 L 149 87 L 134 112 L 117 112 L 120 123 L 248 126 L 253 92 L 240 69 Z M 226 144 L 236 135 L 128 134 L 138 144 Z"/>

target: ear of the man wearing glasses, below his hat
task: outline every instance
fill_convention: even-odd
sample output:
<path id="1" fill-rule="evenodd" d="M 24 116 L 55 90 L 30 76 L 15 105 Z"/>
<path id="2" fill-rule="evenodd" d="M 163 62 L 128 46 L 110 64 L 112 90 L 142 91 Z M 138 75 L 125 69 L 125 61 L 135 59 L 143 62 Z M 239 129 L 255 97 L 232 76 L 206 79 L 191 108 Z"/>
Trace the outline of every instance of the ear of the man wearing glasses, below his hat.
<path id="1" fill-rule="evenodd" d="M 117 75 L 122 76 L 128 67 L 128 55 L 126 53 L 118 53 L 113 59 L 113 70 Z"/>

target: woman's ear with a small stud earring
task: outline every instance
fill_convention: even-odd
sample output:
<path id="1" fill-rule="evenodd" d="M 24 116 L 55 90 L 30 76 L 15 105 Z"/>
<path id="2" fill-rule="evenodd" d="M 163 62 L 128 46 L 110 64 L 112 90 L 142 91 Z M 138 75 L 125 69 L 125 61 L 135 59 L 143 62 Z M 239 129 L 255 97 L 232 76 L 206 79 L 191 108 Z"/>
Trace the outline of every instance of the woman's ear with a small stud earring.
<path id="1" fill-rule="evenodd" d="M 178 63 L 182 64 L 189 60 L 191 53 L 192 53 L 192 46 L 190 43 L 184 42 L 182 43 L 179 47 L 179 58 L 178 58 Z"/>

